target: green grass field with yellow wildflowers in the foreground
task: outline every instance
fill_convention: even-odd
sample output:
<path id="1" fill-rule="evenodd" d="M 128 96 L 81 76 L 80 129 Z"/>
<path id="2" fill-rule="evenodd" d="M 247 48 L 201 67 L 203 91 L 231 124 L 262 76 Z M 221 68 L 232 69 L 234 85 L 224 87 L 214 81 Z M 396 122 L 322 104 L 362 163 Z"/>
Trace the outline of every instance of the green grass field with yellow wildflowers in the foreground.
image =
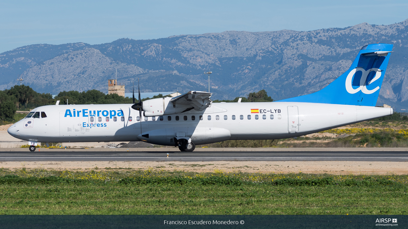
<path id="1" fill-rule="evenodd" d="M 24 169 L 0 175 L 0 214 L 408 214 L 406 175 Z"/>

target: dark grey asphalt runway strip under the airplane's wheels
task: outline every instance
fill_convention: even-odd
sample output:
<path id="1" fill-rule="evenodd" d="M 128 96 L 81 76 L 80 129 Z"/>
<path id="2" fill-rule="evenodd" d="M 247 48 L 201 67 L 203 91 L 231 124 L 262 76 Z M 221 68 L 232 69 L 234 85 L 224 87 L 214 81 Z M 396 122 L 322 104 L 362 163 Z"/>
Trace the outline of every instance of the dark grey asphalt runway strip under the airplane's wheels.
<path id="1" fill-rule="evenodd" d="M 167 157 L 169 153 L 169 157 Z M 408 152 L 0 152 L 0 161 L 408 161 Z"/>

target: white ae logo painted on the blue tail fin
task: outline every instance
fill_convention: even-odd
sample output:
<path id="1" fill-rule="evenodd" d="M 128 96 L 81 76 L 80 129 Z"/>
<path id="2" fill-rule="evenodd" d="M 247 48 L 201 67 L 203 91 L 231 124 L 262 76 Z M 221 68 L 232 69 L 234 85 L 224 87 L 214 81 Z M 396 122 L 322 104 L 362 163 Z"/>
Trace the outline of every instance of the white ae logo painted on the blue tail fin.
<path id="1" fill-rule="evenodd" d="M 358 71 L 362 72 L 361 79 L 360 79 L 360 86 L 354 89 L 351 83 L 352 83 L 353 75 L 357 73 Z M 364 70 L 364 68 L 355 68 L 351 70 L 351 72 L 348 73 L 347 78 L 346 78 L 347 92 L 350 94 L 355 94 L 361 90 L 361 92 L 363 92 L 364 94 L 372 94 L 376 92 L 378 89 L 380 89 L 379 86 L 377 86 L 373 90 L 367 89 L 366 79 L 367 79 L 368 73 L 370 73 L 371 71 L 375 72 L 375 77 L 371 79 L 370 81 L 368 81 L 367 85 L 370 85 L 371 83 L 373 83 L 374 81 L 376 81 L 377 79 L 381 77 L 381 70 L 379 70 L 378 68 L 370 68 L 368 70 Z"/>

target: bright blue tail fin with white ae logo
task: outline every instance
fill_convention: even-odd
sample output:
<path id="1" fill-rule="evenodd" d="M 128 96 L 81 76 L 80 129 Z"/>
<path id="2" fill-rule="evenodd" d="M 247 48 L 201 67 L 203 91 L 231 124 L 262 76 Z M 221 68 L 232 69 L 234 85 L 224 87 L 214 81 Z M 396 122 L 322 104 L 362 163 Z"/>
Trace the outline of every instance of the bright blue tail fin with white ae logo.
<path id="1" fill-rule="evenodd" d="M 392 46 L 392 44 L 366 45 L 361 48 L 350 69 L 322 90 L 279 102 L 375 106 Z"/>

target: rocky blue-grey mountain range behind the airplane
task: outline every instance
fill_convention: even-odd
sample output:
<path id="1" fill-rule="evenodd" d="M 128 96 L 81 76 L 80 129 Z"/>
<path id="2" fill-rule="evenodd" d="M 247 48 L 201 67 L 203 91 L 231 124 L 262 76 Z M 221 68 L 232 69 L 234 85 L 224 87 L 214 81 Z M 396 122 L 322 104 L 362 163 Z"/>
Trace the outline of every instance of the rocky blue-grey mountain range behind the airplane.
<path id="1" fill-rule="evenodd" d="M 0 90 L 18 84 L 53 95 L 98 89 L 107 80 L 140 81 L 141 92 L 208 90 L 233 99 L 265 89 L 274 100 L 316 92 L 351 65 L 371 43 L 394 44 L 377 105 L 408 109 L 408 19 L 314 31 L 225 31 L 105 44 L 32 44 L 0 53 Z"/>

